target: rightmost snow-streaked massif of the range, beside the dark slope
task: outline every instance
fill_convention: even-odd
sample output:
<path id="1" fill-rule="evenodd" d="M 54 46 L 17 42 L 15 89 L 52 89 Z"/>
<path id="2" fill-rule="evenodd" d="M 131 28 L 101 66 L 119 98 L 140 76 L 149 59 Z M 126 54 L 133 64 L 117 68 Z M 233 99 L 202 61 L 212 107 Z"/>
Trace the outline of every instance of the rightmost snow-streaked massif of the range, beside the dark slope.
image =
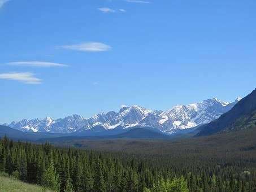
<path id="1" fill-rule="evenodd" d="M 175 133 L 180 129 L 209 123 L 231 110 L 238 101 L 229 103 L 219 99 L 207 99 L 203 102 L 175 106 L 167 111 L 155 111 L 140 122 L 140 125 L 152 126 L 162 132 Z"/>

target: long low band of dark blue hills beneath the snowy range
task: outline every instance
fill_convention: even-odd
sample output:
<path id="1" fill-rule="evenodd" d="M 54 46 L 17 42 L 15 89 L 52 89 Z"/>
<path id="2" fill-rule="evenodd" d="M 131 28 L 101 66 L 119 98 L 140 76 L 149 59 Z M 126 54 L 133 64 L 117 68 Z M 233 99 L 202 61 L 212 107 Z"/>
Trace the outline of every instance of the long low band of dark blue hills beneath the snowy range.
<path id="1" fill-rule="evenodd" d="M 109 129 L 96 126 L 93 130 L 84 130 L 71 134 L 22 132 L 8 126 L 0 125 L 0 138 L 7 136 L 16 141 L 67 141 L 72 139 L 105 139 L 105 138 L 170 138 L 166 134 L 151 127 L 140 127 L 127 129 Z"/>

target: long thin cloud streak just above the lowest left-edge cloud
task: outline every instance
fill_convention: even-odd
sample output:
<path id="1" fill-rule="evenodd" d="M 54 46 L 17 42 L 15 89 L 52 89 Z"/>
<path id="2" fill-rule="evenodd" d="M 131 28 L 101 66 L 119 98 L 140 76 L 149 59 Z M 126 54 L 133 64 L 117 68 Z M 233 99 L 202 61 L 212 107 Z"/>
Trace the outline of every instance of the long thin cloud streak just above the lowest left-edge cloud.
<path id="1" fill-rule="evenodd" d="M 66 64 L 61 63 L 50 63 L 50 62 L 38 62 L 38 61 L 32 61 L 32 62 L 11 62 L 7 63 L 11 66 L 31 66 L 31 67 L 67 67 Z"/>

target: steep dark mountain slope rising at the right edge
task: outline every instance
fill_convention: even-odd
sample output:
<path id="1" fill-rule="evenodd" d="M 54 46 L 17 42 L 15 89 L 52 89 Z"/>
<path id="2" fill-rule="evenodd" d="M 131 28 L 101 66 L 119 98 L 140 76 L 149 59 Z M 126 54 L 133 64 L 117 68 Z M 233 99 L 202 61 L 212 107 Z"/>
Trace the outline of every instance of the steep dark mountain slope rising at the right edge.
<path id="1" fill-rule="evenodd" d="M 201 126 L 197 136 L 242 130 L 256 126 L 256 89 L 241 99 L 230 111 L 211 123 Z"/>

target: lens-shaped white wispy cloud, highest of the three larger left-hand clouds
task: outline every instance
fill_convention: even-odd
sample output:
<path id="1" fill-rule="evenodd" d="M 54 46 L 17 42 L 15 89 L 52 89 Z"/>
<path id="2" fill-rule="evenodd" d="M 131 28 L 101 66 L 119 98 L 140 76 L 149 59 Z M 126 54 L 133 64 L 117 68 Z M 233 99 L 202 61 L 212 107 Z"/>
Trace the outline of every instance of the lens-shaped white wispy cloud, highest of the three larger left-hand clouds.
<path id="1" fill-rule="evenodd" d="M 77 45 L 63 45 L 59 46 L 63 49 L 85 51 L 85 52 L 102 52 L 109 51 L 111 46 L 99 42 L 84 42 Z"/>

